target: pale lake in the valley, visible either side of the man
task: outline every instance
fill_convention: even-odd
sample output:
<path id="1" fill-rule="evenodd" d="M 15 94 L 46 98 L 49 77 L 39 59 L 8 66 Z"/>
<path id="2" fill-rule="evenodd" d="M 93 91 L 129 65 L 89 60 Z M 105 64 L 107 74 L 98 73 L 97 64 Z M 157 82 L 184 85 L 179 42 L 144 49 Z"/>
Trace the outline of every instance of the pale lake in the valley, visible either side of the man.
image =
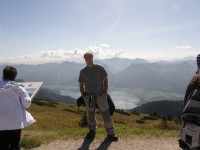
<path id="1" fill-rule="evenodd" d="M 71 91 L 71 90 L 59 90 L 61 95 L 71 96 L 74 99 L 80 97 L 80 92 Z M 109 91 L 116 109 L 132 109 L 137 107 L 137 104 L 140 102 L 140 99 L 134 94 L 126 93 L 123 91 Z"/>

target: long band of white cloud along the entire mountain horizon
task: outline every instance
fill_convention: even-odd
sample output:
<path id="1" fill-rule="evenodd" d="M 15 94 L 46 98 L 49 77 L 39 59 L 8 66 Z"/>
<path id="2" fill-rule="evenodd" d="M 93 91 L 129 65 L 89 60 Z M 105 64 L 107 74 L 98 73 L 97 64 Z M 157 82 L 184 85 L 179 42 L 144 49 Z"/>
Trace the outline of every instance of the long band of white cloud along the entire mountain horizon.
<path id="1" fill-rule="evenodd" d="M 85 52 L 92 52 L 94 59 L 109 59 L 113 57 L 122 58 L 143 58 L 150 61 L 156 60 L 173 60 L 188 56 L 196 56 L 198 50 L 189 45 L 179 45 L 170 49 L 157 51 L 135 51 L 126 52 L 124 50 L 113 50 L 107 44 L 100 46 L 89 46 L 86 50 L 75 48 L 74 50 L 49 50 L 41 51 L 37 54 L 26 55 L 20 57 L 0 58 L 0 63 L 15 63 L 15 64 L 41 64 L 49 62 L 79 62 L 83 63 L 83 55 Z"/>

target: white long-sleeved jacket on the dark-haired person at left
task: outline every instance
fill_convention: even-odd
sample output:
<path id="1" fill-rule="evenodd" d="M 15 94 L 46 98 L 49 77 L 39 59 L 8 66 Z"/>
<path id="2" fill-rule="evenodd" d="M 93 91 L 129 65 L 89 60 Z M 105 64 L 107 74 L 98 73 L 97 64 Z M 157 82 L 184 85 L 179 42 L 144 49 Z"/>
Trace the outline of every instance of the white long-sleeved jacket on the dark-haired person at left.
<path id="1" fill-rule="evenodd" d="M 14 81 L 0 81 L 0 130 L 25 128 L 35 122 L 25 109 L 30 107 L 27 91 Z"/>

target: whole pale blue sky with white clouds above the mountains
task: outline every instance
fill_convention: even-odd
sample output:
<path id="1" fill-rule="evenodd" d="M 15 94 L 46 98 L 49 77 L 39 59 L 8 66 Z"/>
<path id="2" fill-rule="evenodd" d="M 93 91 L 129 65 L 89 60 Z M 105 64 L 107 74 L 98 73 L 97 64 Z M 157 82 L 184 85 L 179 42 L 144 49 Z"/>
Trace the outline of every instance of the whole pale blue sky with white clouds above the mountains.
<path id="1" fill-rule="evenodd" d="M 199 0 L 0 0 L 0 62 L 200 53 Z"/>

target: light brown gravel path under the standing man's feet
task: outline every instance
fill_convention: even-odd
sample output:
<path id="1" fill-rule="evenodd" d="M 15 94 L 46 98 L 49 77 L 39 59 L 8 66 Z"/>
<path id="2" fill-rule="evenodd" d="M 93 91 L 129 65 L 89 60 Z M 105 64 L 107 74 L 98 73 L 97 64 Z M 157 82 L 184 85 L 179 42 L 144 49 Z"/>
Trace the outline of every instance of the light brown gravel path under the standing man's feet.
<path id="1" fill-rule="evenodd" d="M 67 139 L 54 141 L 32 150 L 181 150 L 175 137 L 132 137 L 119 138 L 118 142 L 105 139 Z"/>

